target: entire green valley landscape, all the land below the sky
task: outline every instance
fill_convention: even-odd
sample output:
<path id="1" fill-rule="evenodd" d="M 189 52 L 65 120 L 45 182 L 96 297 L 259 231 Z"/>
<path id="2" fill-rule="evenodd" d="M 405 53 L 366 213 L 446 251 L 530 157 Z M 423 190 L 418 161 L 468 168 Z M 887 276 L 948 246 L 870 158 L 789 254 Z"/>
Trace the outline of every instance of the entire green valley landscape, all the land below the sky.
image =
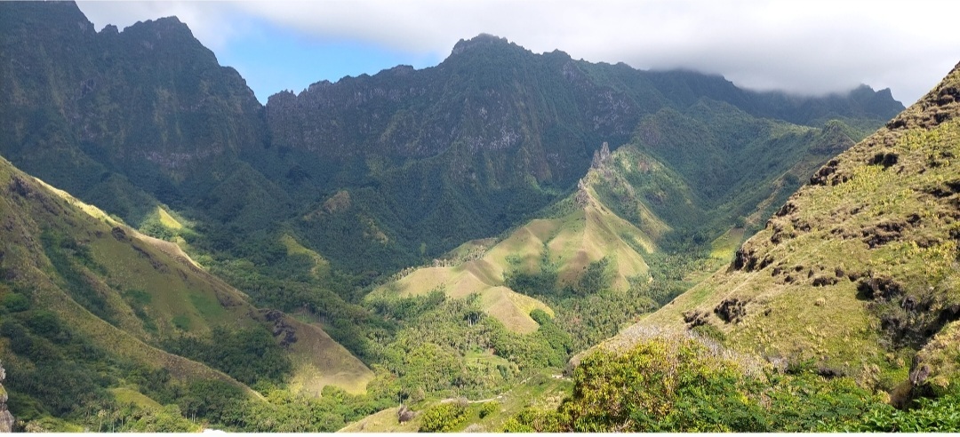
<path id="1" fill-rule="evenodd" d="M 904 108 L 480 34 L 260 104 L 178 18 L 72 2 L 0 2 L 0 54 L 16 430 L 921 430 L 958 399 L 957 70 Z"/>

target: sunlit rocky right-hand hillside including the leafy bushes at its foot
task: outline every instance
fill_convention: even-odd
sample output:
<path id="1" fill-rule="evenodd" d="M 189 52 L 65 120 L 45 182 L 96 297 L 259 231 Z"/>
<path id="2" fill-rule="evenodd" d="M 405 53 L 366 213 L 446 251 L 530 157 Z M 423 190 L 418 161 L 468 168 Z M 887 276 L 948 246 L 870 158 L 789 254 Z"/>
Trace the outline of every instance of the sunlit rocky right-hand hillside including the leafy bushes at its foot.
<path id="1" fill-rule="evenodd" d="M 958 89 L 960 64 L 831 159 L 730 265 L 575 357 L 558 407 L 503 429 L 960 429 Z"/>

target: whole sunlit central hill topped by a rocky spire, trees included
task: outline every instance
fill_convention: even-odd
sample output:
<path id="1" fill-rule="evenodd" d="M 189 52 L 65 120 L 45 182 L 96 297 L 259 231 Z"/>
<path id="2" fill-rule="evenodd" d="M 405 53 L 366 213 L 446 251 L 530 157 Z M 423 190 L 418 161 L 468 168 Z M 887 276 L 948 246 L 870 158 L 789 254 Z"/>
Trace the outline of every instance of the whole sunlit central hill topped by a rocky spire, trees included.
<path id="1" fill-rule="evenodd" d="M 610 151 L 603 150 L 597 166 L 610 159 Z M 468 243 L 434 266 L 414 269 L 373 292 L 410 296 L 443 289 L 454 298 L 478 293 L 484 311 L 527 334 L 540 326 L 531 311 L 553 313 L 531 296 L 553 289 L 579 294 L 607 287 L 623 291 L 632 281 L 647 281 L 641 252 L 652 252 L 655 244 L 597 201 L 588 181 L 602 177 L 598 169 L 588 173 L 575 196 L 554 208 L 555 218 L 534 219 L 492 247 Z M 590 275 L 594 284 L 584 280 Z"/>

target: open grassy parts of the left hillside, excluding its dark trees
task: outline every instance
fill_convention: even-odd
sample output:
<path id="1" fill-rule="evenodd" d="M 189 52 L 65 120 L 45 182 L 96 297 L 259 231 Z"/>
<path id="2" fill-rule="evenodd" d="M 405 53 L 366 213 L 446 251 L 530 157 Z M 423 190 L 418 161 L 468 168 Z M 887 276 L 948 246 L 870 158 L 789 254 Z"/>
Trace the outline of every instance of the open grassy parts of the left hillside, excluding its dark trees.
<path id="1" fill-rule="evenodd" d="M 267 323 L 266 314 L 253 308 L 242 292 L 207 274 L 176 244 L 140 235 L 100 210 L 16 171 L 6 161 L 0 162 L 0 177 L 0 187 L 6 187 L 0 197 L 4 205 L 0 219 L 8 223 L 3 267 L 13 272 L 16 283 L 36 289 L 41 306 L 56 311 L 75 329 L 122 357 L 166 367 L 180 378 L 230 380 L 156 346 L 161 338 L 204 335 L 215 326 Z M 41 232 L 67 235 L 89 250 L 92 266 L 79 268 L 83 280 L 106 303 L 103 311 L 112 324 L 70 298 L 36 242 Z M 321 384 L 331 383 L 362 392 L 372 379 L 362 362 L 319 327 L 286 315 L 280 321 L 292 326 L 299 339 L 290 352 L 297 369 L 294 380 L 304 388 L 319 392 Z"/>

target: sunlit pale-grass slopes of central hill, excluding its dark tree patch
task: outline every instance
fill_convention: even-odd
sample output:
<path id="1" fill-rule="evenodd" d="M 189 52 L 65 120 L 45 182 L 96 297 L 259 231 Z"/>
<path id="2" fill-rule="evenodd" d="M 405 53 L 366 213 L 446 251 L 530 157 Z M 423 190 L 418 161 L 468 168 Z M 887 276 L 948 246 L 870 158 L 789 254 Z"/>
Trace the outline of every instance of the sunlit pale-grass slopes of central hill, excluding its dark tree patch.
<path id="1" fill-rule="evenodd" d="M 600 176 L 590 173 L 587 180 L 596 177 Z M 544 251 L 550 264 L 556 265 L 561 287 L 576 285 L 590 263 L 608 257 L 614 265 L 612 287 L 629 288 L 628 278 L 649 275 L 637 247 L 652 252 L 655 245 L 636 226 L 598 201 L 592 187 L 585 186 L 582 192 L 582 205 L 572 212 L 557 219 L 531 220 L 479 258 L 447 263 L 453 264 L 449 266 L 419 268 L 375 292 L 410 296 L 443 288 L 457 298 L 480 293 L 485 311 L 511 330 L 531 333 L 537 330 L 538 324 L 530 318 L 530 311 L 538 308 L 551 314 L 553 311 L 540 300 L 506 287 L 504 275 L 514 269 L 539 272 Z M 458 247 L 452 256 L 456 259 L 457 254 L 470 250 L 477 250 L 475 243 Z"/>

